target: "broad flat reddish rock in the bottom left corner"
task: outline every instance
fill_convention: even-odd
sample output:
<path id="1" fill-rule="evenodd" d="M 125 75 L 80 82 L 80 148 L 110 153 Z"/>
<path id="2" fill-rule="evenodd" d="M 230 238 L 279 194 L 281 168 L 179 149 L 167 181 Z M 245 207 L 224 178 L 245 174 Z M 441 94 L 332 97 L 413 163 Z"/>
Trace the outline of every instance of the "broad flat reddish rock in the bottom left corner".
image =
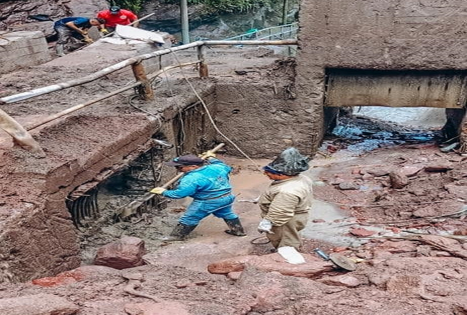
<path id="1" fill-rule="evenodd" d="M 0 299 L 2 315 L 71 315 L 79 309 L 79 306 L 53 294 Z"/>

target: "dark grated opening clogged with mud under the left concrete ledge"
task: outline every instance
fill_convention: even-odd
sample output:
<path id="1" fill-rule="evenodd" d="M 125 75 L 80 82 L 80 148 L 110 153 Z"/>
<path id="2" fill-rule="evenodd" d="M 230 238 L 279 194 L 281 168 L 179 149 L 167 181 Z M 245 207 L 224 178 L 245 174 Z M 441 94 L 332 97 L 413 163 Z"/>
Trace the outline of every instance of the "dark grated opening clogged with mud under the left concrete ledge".
<path id="1" fill-rule="evenodd" d="M 157 195 L 125 221 L 115 221 L 122 207 L 173 175 L 162 168 L 162 162 L 173 156 L 175 148 L 165 141 L 152 140 L 153 147 L 135 154 L 118 170 L 109 170 L 102 181 L 82 184 L 68 196 L 66 206 L 78 230 L 84 263 L 92 264 L 96 248 L 122 236 L 144 238 L 148 243 L 175 224 L 178 213 L 167 213 L 169 200 Z"/>

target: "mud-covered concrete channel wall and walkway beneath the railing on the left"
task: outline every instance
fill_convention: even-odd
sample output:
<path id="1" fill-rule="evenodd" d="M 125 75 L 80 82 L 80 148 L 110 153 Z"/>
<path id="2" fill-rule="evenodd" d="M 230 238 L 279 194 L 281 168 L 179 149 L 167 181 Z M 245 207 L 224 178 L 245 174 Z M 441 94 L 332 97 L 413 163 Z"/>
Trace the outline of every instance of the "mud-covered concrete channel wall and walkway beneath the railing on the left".
<path id="1" fill-rule="evenodd" d="M 4 75 L 0 86 L 7 93 L 15 94 L 18 88 L 14 85 L 18 81 L 25 86 L 22 91 L 27 91 L 76 79 L 151 48 L 154 49 L 148 44 L 134 47 L 99 41 L 32 71 Z M 196 59 L 196 51 L 185 53 L 186 56 L 180 53 L 176 58 L 168 55 L 168 59 L 172 59 L 172 64 L 182 57 L 186 59 L 180 61 L 185 62 Z M 219 57 L 222 52 L 212 54 Z M 234 56 L 226 55 L 230 59 Z M 230 139 L 239 144 L 242 141 L 242 149 L 247 153 L 273 156 L 278 152 L 278 145 L 286 147 L 305 138 L 295 129 L 305 131 L 308 128 L 307 124 L 300 124 L 302 120 L 293 121 L 295 129 L 289 127 L 294 113 L 306 118 L 306 111 L 297 108 L 298 104 L 284 105 L 293 97 L 289 92 L 293 62 L 271 67 L 275 56 L 240 59 L 251 74 L 233 75 L 232 78 L 232 65 L 226 64 L 217 73 L 211 69 L 213 79 L 196 78 L 198 71 L 192 67 L 191 74 L 183 76 L 190 77 L 217 126 Z M 160 67 L 158 58 L 147 61 L 155 61 L 153 64 L 145 62 L 148 71 Z M 161 65 L 165 62 L 162 60 Z M 271 71 L 273 68 L 277 71 Z M 289 77 L 283 78 L 287 69 Z M 185 68 L 184 71 L 190 70 Z M 109 224 L 109 212 L 99 212 L 91 219 L 81 214 L 76 218 L 76 212 L 82 212 L 83 205 L 89 208 L 90 204 L 99 204 L 99 211 L 104 211 L 105 198 L 98 202 L 91 200 L 99 198 L 96 191 L 103 185 L 108 184 L 115 195 L 124 195 L 129 176 L 120 173 L 134 164 L 140 154 L 152 154 L 153 162 L 158 164 L 175 155 L 199 152 L 225 142 L 183 78 L 169 77 L 166 84 L 156 85 L 154 100 L 129 102 L 132 92 L 128 91 L 33 129 L 31 134 L 44 149 L 43 155 L 12 143 L 2 144 L 0 139 L 0 282 L 26 281 L 78 267 L 79 231 L 74 221 L 82 220 L 85 224 L 91 221 L 82 230 L 93 233 Z M 27 126 L 43 115 L 85 103 L 125 86 L 131 80 L 134 76 L 127 67 L 93 82 L 5 104 L 2 108 Z M 153 138 L 167 141 L 173 147 L 162 150 Z M 2 145 L 5 151 L 2 151 Z M 229 146 L 228 153 L 239 154 L 233 146 Z M 164 170 L 158 180 L 169 179 L 174 175 L 171 172 L 175 169 Z M 154 185 L 154 180 L 150 184 Z M 139 190 L 151 188 L 137 186 Z M 115 210 L 110 214 L 114 213 Z"/>

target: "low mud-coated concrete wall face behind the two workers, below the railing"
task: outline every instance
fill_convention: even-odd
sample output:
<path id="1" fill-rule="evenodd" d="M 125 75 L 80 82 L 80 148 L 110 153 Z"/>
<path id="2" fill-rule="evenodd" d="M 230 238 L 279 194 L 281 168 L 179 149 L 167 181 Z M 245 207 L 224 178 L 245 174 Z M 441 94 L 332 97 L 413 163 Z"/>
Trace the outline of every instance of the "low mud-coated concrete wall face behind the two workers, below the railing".
<path id="1" fill-rule="evenodd" d="M 272 157 L 289 146 L 311 154 L 314 115 L 289 99 L 289 85 L 276 83 L 216 84 L 216 124 L 252 157 Z M 239 155 L 232 146 L 228 150 Z"/>

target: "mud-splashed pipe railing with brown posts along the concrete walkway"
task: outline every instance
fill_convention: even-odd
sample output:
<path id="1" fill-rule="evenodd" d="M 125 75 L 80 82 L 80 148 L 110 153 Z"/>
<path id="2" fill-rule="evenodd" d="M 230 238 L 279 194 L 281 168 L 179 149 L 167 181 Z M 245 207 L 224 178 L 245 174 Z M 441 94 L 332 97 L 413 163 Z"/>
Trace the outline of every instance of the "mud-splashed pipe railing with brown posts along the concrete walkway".
<path id="1" fill-rule="evenodd" d="M 0 98 L 0 105 L 12 104 L 12 103 L 36 98 L 36 97 L 39 97 L 41 95 L 48 94 L 51 92 L 55 92 L 55 91 L 63 90 L 66 88 L 71 88 L 74 86 L 79 86 L 85 83 L 89 83 L 89 82 L 105 77 L 115 71 L 121 70 L 128 66 L 132 68 L 133 74 L 136 79 L 135 82 L 130 82 L 124 87 L 114 90 L 112 92 L 109 92 L 101 97 L 98 97 L 88 102 L 65 109 L 59 113 L 45 117 L 41 121 L 36 122 L 35 124 L 32 124 L 32 125 L 29 125 L 27 128 L 24 128 L 21 124 L 19 124 L 15 119 L 13 119 L 5 111 L 0 109 L 0 129 L 6 131 L 11 137 L 13 137 L 14 142 L 19 144 L 24 149 L 28 149 L 32 151 L 42 151 L 39 144 L 28 133 L 29 130 L 35 129 L 54 119 L 57 119 L 59 117 L 62 117 L 64 115 L 77 111 L 79 109 L 87 107 L 91 104 L 97 103 L 109 97 L 115 96 L 116 94 L 119 94 L 121 92 L 124 92 L 132 88 L 136 88 L 136 87 L 138 87 L 138 93 L 142 99 L 151 100 L 154 98 L 154 90 L 151 85 L 151 80 L 161 75 L 162 73 L 169 71 L 170 69 L 181 68 L 181 67 L 185 67 L 189 65 L 197 65 L 199 77 L 207 78 L 208 77 L 208 63 L 206 61 L 206 54 L 205 54 L 206 46 L 210 46 L 210 45 L 296 45 L 296 44 L 297 44 L 296 40 L 196 41 L 196 42 L 186 44 L 186 45 L 166 48 L 166 49 L 157 50 L 151 53 L 138 55 L 138 56 L 120 61 L 115 65 L 112 65 L 110 67 L 104 68 L 90 75 L 87 75 L 87 76 L 84 76 L 84 77 L 81 77 L 75 80 L 52 84 L 52 85 L 32 89 L 26 92 L 13 94 L 11 96 Z M 146 73 L 146 69 L 142 63 L 143 60 L 151 59 L 154 57 L 160 58 L 162 55 L 170 54 L 178 50 L 185 50 L 189 48 L 197 49 L 197 60 L 192 61 L 192 62 L 185 62 L 183 64 L 168 66 L 154 73 L 150 73 L 150 74 Z M 160 59 L 159 59 L 159 62 L 160 62 Z"/>

